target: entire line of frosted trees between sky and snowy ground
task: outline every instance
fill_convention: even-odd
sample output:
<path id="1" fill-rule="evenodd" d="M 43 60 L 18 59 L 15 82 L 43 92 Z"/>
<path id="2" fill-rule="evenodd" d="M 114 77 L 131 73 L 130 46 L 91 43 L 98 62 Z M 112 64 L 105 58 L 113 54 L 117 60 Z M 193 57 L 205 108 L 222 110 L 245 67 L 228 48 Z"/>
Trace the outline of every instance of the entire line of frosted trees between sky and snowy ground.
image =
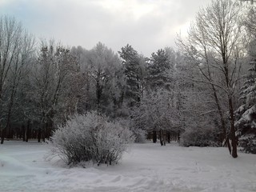
<path id="1" fill-rule="evenodd" d="M 198 11 L 178 49 L 150 58 L 102 42 L 91 50 L 37 41 L 0 18 L 0 129 L 5 138 L 49 139 L 74 114 L 96 111 L 165 145 L 237 145 L 256 153 L 254 4 L 215 0 Z"/>

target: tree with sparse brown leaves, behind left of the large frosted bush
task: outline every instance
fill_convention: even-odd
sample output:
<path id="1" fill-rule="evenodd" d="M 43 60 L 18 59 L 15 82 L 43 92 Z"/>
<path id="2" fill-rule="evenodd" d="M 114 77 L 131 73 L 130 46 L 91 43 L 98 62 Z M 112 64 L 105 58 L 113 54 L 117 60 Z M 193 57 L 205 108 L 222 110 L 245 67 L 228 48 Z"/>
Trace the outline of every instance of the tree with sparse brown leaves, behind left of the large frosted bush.
<path id="1" fill-rule="evenodd" d="M 32 100 L 37 106 L 38 142 L 50 137 L 56 118 L 63 119 L 66 110 L 74 108 L 77 91 L 73 81 L 76 75 L 77 63 L 70 50 L 56 46 L 53 41 L 49 44 L 42 42 L 42 48 L 37 65 L 33 71 Z M 74 109 L 72 110 L 74 111 Z"/>

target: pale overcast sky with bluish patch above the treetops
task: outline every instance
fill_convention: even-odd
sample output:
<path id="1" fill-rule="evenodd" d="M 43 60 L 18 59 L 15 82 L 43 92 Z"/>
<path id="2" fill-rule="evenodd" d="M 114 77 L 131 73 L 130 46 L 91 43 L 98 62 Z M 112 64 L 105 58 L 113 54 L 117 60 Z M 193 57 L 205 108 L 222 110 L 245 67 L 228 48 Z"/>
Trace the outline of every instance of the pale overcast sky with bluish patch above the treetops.
<path id="1" fill-rule="evenodd" d="M 129 43 L 150 56 L 174 46 L 186 34 L 200 7 L 210 0 L 0 0 L 0 13 L 14 16 L 37 38 L 64 46 L 93 48 L 102 42 L 114 51 Z"/>

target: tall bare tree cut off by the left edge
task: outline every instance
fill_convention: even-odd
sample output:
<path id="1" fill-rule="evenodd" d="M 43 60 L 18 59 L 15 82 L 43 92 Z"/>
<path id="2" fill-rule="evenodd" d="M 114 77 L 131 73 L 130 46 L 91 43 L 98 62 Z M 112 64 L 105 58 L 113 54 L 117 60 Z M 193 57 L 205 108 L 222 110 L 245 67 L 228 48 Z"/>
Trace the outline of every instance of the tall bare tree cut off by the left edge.
<path id="1" fill-rule="evenodd" d="M 33 51 L 34 38 L 22 29 L 21 23 L 7 16 L 0 18 L 1 143 L 6 136 L 6 130 L 10 130 L 14 98 Z"/>

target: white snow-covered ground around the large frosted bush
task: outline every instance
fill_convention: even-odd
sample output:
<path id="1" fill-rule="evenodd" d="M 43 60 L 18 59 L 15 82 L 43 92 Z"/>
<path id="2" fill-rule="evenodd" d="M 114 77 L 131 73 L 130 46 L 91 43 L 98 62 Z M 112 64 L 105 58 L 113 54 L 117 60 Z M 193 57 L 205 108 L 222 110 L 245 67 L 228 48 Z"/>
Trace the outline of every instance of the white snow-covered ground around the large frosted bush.
<path id="1" fill-rule="evenodd" d="M 49 146 L 6 141 L 0 146 L 0 191 L 256 191 L 256 155 L 226 148 L 133 144 L 115 166 L 86 168 L 49 160 Z"/>

